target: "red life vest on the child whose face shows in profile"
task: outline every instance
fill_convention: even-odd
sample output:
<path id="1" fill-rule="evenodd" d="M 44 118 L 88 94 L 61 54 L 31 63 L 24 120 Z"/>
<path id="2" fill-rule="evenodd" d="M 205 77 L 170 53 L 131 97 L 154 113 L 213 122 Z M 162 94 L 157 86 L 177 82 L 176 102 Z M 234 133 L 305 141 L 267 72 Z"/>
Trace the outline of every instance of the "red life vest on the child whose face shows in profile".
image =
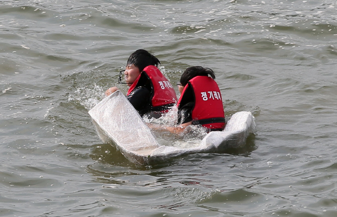
<path id="1" fill-rule="evenodd" d="M 154 66 L 149 65 L 146 66 L 143 71 L 140 73 L 138 78 L 134 81 L 134 83 L 131 85 L 127 96 L 130 95 L 130 93 L 141 84 L 138 84 L 138 81 L 140 79 L 140 76 L 142 74 L 146 74 L 147 77 L 151 80 L 151 86 L 153 88 L 153 95 L 151 98 L 151 103 L 153 107 L 153 111 L 160 110 L 160 106 L 170 105 L 172 106 L 177 103 L 177 95 L 175 89 L 173 89 L 173 86 L 171 83 L 161 74 L 160 70 Z M 171 105 L 170 105 L 171 106 Z M 155 108 L 157 107 L 157 108 Z M 164 109 L 167 110 L 167 109 Z"/>

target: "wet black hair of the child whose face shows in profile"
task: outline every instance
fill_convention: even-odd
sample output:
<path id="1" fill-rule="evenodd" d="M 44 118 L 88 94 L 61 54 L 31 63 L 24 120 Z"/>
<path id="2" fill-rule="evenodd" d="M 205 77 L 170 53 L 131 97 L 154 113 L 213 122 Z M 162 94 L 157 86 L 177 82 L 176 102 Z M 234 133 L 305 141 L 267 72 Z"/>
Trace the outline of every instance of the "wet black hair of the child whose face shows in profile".
<path id="1" fill-rule="evenodd" d="M 158 66 L 160 61 L 147 50 L 139 49 L 130 55 L 126 65 L 130 64 L 134 64 L 139 68 L 139 71 L 143 71 L 143 69 L 148 65 Z"/>

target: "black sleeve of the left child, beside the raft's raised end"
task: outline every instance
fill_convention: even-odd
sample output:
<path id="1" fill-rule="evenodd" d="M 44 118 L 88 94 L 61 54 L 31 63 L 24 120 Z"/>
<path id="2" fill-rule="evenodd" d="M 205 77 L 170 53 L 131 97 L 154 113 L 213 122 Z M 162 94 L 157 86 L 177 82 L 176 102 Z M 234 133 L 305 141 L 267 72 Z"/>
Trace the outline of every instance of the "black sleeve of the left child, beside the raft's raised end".
<path id="1" fill-rule="evenodd" d="M 149 105 L 150 91 L 144 87 L 138 87 L 133 90 L 127 99 L 133 107 L 139 112 Z"/>

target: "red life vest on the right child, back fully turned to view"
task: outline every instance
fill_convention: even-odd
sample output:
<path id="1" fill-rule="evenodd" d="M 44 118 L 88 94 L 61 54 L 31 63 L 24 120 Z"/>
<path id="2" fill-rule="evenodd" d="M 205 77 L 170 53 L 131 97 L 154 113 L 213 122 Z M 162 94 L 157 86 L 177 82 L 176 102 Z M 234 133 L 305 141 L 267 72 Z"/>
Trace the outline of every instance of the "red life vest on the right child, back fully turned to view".
<path id="1" fill-rule="evenodd" d="M 197 76 L 185 86 L 178 101 L 180 105 L 184 92 L 191 87 L 194 92 L 195 104 L 192 109 L 192 124 L 201 124 L 208 129 L 224 129 L 225 112 L 223 110 L 220 89 L 216 82 L 208 76 Z"/>

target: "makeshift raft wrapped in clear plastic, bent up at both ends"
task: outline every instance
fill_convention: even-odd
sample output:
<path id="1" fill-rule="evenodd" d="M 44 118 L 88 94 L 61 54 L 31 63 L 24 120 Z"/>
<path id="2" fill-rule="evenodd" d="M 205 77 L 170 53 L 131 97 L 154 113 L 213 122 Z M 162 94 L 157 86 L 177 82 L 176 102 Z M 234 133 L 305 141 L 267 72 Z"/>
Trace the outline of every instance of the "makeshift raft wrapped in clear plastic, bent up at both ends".
<path id="1" fill-rule="evenodd" d="M 104 142 L 116 144 L 126 158 L 137 164 L 153 164 L 184 154 L 220 152 L 242 147 L 249 133 L 255 131 L 254 116 L 242 111 L 232 115 L 223 131 L 208 133 L 198 146 L 161 146 L 120 91 L 103 99 L 89 114 L 100 138 Z"/>

